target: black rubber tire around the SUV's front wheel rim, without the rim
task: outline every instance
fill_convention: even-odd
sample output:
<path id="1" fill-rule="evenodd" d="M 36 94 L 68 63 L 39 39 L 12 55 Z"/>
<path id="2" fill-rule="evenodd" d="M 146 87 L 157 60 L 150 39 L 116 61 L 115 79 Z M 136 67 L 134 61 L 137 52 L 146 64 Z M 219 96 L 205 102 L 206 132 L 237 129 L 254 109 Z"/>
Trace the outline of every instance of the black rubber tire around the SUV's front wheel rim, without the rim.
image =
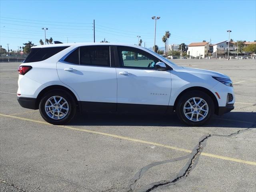
<path id="1" fill-rule="evenodd" d="M 193 120 L 188 119 L 185 116 L 185 112 L 184 112 L 184 105 L 186 104 L 186 102 L 188 100 L 190 100 L 190 98 L 196 98 L 196 97 L 202 98 L 208 105 L 208 113 L 205 116 L 205 118 L 200 121 L 193 121 Z M 185 124 L 187 124 L 189 126 L 202 126 L 203 124 L 208 122 L 214 115 L 214 102 L 208 94 L 206 94 L 202 91 L 195 90 L 195 91 L 186 92 L 181 96 L 181 98 L 177 102 L 176 113 L 177 113 L 178 118 Z M 200 117 L 202 118 L 202 116 L 200 116 Z"/>

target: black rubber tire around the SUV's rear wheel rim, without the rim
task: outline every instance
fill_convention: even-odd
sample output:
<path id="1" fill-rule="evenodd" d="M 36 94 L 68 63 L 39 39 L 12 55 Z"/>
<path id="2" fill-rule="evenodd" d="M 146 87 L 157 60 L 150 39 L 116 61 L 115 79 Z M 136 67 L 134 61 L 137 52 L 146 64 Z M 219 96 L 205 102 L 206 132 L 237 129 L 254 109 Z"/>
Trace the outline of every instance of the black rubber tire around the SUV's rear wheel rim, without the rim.
<path id="1" fill-rule="evenodd" d="M 68 112 L 66 112 L 66 116 L 64 116 L 62 119 L 53 119 L 46 114 L 45 104 L 47 100 L 53 96 L 60 96 L 64 98 L 64 100 L 66 100 L 66 102 L 68 103 Z M 39 104 L 39 111 L 42 118 L 44 118 L 44 120 L 46 120 L 48 123 L 54 124 L 54 125 L 62 125 L 70 122 L 76 115 L 76 102 L 68 92 L 64 90 L 52 90 L 50 92 L 47 92 L 42 97 Z"/>

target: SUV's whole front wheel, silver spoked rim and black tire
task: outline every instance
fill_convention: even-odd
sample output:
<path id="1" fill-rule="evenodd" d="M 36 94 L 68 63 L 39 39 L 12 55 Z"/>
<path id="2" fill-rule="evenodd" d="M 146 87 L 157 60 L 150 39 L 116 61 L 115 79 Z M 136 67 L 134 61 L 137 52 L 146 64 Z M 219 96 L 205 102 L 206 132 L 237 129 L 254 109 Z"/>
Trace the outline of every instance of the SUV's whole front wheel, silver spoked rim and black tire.
<path id="1" fill-rule="evenodd" d="M 178 100 L 176 112 L 182 122 L 190 126 L 201 126 L 214 115 L 214 103 L 208 94 L 190 91 Z"/>

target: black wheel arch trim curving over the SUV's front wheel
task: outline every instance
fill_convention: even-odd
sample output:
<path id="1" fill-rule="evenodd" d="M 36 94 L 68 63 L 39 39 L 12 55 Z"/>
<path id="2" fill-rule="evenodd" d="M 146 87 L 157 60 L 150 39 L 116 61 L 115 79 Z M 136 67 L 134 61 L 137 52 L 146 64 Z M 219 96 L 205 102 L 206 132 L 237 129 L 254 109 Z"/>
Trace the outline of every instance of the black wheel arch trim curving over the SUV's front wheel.
<path id="1" fill-rule="evenodd" d="M 189 92 L 189 91 L 202 91 L 202 92 L 205 92 L 206 94 L 208 94 L 210 96 L 210 98 L 212 98 L 213 100 L 213 103 L 214 103 L 214 113 L 216 114 L 218 112 L 218 107 L 219 107 L 219 104 L 218 104 L 218 100 L 216 98 L 216 96 L 208 89 L 204 88 L 204 87 L 199 87 L 199 86 L 194 86 L 194 87 L 190 87 L 190 88 L 187 88 L 185 90 L 183 90 L 179 95 L 178 97 L 176 98 L 175 102 L 174 102 L 174 108 L 173 110 L 176 109 L 176 105 L 178 103 L 178 100 L 182 97 L 183 94 L 185 94 L 186 92 Z"/>

